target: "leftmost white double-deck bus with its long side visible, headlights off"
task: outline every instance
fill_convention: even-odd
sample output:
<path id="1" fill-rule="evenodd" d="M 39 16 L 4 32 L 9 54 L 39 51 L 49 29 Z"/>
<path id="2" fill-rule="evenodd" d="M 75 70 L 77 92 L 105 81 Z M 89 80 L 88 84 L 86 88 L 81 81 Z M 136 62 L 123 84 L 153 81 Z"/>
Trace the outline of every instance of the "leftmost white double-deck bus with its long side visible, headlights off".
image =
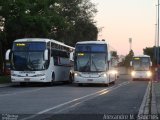
<path id="1" fill-rule="evenodd" d="M 6 52 L 11 61 L 11 81 L 49 82 L 69 81 L 70 54 L 74 48 L 64 43 L 43 38 L 24 38 L 13 42 L 12 50 Z"/>

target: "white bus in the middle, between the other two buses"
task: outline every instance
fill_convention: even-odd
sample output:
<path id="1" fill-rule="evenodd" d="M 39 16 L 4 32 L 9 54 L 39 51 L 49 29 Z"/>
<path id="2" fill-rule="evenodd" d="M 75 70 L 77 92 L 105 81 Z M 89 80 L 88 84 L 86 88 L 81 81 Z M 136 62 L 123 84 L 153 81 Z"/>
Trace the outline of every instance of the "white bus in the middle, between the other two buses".
<path id="1" fill-rule="evenodd" d="M 105 41 L 77 42 L 74 57 L 74 83 L 108 85 L 115 83 L 117 71 L 112 66 L 110 47 Z"/>

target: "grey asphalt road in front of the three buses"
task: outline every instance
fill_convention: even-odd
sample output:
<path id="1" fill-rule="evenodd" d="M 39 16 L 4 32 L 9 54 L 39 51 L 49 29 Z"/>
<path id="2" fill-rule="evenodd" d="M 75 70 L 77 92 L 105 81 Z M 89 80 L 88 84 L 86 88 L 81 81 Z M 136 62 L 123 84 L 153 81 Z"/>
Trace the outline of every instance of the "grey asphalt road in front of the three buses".
<path id="1" fill-rule="evenodd" d="M 52 87 L 3 87 L 0 88 L 0 118 L 103 120 L 109 119 L 111 116 L 105 116 L 109 114 L 134 115 L 139 112 L 147 85 L 148 81 L 131 81 L 123 75 L 108 87 L 61 83 Z"/>

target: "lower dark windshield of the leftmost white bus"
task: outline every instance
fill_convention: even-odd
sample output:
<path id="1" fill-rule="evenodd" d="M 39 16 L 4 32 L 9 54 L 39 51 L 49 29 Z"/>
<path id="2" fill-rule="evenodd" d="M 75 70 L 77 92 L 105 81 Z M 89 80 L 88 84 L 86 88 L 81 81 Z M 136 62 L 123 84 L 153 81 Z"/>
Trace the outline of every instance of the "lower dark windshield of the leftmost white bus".
<path id="1" fill-rule="evenodd" d="M 12 69 L 18 71 L 44 70 L 43 54 L 44 52 L 14 52 Z"/>

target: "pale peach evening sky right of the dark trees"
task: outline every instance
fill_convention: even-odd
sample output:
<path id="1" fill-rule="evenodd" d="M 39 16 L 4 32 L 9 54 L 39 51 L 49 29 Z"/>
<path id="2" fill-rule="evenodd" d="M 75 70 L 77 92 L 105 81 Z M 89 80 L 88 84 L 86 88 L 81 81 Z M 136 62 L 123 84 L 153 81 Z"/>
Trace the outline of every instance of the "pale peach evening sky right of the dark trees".
<path id="1" fill-rule="evenodd" d="M 158 0 L 91 0 L 98 12 L 95 21 L 105 39 L 118 55 L 127 55 L 129 38 L 135 55 L 155 45 L 156 4 Z"/>

